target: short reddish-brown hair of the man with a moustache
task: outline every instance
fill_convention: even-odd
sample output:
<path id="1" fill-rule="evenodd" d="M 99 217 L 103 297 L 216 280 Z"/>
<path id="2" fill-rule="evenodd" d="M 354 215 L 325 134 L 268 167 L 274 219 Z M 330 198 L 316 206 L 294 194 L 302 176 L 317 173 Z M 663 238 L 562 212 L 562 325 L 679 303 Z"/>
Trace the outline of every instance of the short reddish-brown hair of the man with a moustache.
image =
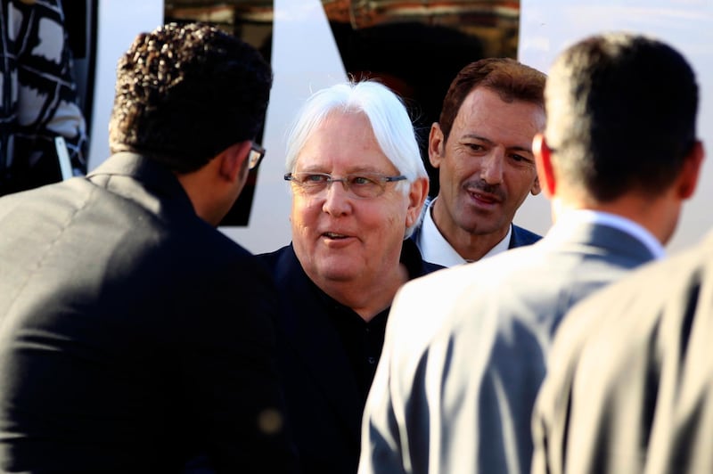
<path id="1" fill-rule="evenodd" d="M 545 74 L 511 58 L 486 58 L 467 64 L 458 72 L 440 111 L 438 125 L 448 140 L 455 116 L 476 87 L 486 87 L 504 102 L 531 102 L 545 109 Z"/>

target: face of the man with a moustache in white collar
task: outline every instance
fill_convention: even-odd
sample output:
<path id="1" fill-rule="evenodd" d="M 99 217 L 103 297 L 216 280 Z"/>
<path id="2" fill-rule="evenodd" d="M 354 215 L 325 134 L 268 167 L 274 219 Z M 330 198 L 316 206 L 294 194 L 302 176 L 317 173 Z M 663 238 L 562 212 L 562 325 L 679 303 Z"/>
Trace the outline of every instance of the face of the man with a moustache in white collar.
<path id="1" fill-rule="evenodd" d="M 498 233 L 504 236 L 529 192 L 540 192 L 532 139 L 545 127 L 545 112 L 530 102 L 504 102 L 486 88 L 466 97 L 447 143 L 431 130 L 430 162 L 438 168 L 446 212 L 444 233 Z M 438 222 L 438 221 L 437 221 Z"/>

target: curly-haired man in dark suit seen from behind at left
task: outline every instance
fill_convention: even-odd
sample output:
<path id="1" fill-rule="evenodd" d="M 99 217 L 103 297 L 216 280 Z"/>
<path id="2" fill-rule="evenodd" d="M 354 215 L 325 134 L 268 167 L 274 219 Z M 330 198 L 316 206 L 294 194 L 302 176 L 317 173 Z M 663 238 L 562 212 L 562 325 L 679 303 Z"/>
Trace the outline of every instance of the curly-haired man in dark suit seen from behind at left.
<path id="1" fill-rule="evenodd" d="M 113 155 L 0 199 L 0 470 L 291 470 L 275 286 L 216 229 L 264 155 L 271 86 L 213 27 L 139 35 Z"/>

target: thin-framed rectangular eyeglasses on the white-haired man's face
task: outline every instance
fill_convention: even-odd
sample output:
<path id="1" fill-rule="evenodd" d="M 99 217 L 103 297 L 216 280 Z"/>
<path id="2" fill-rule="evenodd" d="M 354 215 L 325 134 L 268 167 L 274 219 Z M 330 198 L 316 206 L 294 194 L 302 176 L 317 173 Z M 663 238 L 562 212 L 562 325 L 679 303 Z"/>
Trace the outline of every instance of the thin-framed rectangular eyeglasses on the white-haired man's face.
<path id="1" fill-rule="evenodd" d="M 307 195 L 316 195 L 323 192 L 329 184 L 340 182 L 344 190 L 355 198 L 378 198 L 386 191 L 386 184 L 403 181 L 406 176 L 384 176 L 380 173 L 356 173 L 340 178 L 335 178 L 329 173 L 288 173 L 285 181 L 290 181 L 300 192 Z"/>

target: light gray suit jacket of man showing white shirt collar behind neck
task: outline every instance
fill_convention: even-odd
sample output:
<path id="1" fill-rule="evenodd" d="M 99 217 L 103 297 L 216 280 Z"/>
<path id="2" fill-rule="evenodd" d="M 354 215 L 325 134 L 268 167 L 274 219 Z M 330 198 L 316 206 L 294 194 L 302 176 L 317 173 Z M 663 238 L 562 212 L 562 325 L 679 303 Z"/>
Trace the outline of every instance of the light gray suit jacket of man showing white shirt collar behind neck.
<path id="1" fill-rule="evenodd" d="M 613 227 L 560 224 L 534 245 L 407 283 L 366 404 L 360 474 L 527 472 L 562 315 L 652 257 Z"/>

